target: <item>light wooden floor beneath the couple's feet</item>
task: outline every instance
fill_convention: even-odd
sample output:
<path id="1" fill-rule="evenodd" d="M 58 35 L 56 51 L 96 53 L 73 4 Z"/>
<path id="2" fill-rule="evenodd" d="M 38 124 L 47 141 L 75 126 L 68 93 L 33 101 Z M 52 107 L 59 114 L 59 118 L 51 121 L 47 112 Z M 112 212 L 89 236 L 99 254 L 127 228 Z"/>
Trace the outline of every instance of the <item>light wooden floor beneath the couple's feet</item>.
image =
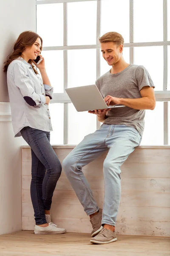
<path id="1" fill-rule="evenodd" d="M 0 256 L 169 256 L 170 238 L 119 235 L 110 244 L 91 244 L 88 233 L 34 235 L 32 231 L 0 236 Z"/>

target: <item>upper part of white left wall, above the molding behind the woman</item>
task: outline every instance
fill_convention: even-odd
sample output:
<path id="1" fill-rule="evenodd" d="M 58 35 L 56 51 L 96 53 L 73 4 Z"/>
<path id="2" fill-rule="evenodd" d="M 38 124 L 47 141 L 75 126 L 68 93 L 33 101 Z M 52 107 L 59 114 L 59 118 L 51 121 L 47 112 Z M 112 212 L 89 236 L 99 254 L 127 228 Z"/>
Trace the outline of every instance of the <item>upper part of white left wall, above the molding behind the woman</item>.
<path id="1" fill-rule="evenodd" d="M 9 101 L 3 62 L 19 34 L 35 29 L 35 0 L 0 0 L 0 102 Z"/>

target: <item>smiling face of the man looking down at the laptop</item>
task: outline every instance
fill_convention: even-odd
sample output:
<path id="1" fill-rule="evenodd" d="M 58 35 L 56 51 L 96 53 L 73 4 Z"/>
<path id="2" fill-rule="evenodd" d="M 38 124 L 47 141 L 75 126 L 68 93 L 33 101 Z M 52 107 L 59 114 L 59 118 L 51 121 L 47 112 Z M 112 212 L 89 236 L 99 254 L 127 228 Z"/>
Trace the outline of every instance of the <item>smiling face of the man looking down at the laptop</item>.
<path id="1" fill-rule="evenodd" d="M 115 65 L 121 58 L 123 45 L 116 45 L 113 42 L 101 43 L 101 52 L 103 58 L 109 66 Z"/>

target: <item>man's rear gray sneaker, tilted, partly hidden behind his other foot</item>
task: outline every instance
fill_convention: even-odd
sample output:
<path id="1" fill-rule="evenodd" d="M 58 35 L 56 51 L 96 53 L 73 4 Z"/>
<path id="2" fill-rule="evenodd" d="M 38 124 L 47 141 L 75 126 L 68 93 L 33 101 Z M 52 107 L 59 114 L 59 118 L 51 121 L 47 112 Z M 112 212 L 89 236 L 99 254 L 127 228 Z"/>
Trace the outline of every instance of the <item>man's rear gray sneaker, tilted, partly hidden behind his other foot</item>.
<path id="1" fill-rule="evenodd" d="M 90 222 L 93 227 L 91 236 L 94 237 L 102 230 L 102 209 L 99 209 L 99 212 L 91 217 Z"/>

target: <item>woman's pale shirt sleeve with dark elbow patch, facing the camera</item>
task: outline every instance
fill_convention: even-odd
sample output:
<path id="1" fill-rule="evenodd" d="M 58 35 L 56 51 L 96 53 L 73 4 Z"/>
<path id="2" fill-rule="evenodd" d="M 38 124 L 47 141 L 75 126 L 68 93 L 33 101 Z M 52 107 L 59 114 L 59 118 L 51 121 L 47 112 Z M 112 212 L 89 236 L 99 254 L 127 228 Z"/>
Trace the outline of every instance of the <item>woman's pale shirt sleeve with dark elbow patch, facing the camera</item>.
<path id="1" fill-rule="evenodd" d="M 13 77 L 15 85 L 20 89 L 28 105 L 41 107 L 45 103 L 45 96 L 35 93 L 34 85 L 23 63 L 14 64 Z"/>

